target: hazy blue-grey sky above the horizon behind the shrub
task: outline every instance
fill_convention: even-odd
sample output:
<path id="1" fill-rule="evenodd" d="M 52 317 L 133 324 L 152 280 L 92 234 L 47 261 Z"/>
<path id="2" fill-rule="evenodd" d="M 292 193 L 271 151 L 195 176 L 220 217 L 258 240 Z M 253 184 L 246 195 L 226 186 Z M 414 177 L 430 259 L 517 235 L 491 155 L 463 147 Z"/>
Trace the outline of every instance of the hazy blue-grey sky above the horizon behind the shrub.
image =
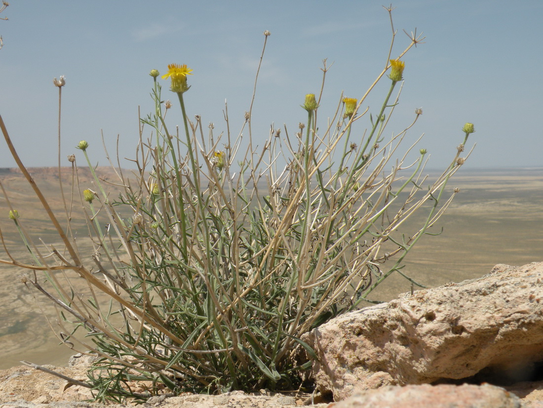
<path id="1" fill-rule="evenodd" d="M 61 158 L 80 140 L 91 159 L 106 164 L 101 134 L 114 155 L 134 158 L 138 109 L 153 110 L 149 71 L 187 64 L 193 75 L 185 93 L 190 118 L 237 133 L 249 110 L 254 78 L 269 30 L 253 107 L 254 143 L 270 125 L 291 134 L 307 118 L 300 108 L 306 93 L 319 93 L 326 74 L 319 128 L 326 127 L 342 92 L 359 98 L 387 62 L 392 29 L 382 5 L 368 1 L 275 0 L 153 2 L 9 0 L 0 17 L 0 115 L 24 164 L 55 166 L 58 157 L 58 88 L 62 89 Z M 389 5 L 389 3 L 386 3 Z M 397 0 L 392 56 L 409 44 L 403 33 L 424 32 L 424 43 L 403 57 L 406 68 L 399 105 L 386 135 L 409 130 L 407 142 L 424 138 L 428 166 L 444 168 L 462 141 L 465 122 L 475 124 L 468 147 L 477 143 L 465 168 L 542 167 L 543 2 L 526 0 Z M 176 95 L 163 85 L 163 99 Z M 389 87 L 383 78 L 362 106 L 380 108 Z M 171 127 L 181 125 L 174 105 Z M 369 117 L 356 123 L 358 134 Z M 284 129 L 283 129 L 284 130 Z M 149 134 L 144 135 L 146 137 Z M 79 156 L 78 156 L 79 158 Z M 82 158 L 82 156 L 81 156 Z M 78 159 L 79 160 L 79 159 Z M 122 161 L 129 167 L 129 161 Z M 0 139 L 0 167 L 14 167 Z"/>

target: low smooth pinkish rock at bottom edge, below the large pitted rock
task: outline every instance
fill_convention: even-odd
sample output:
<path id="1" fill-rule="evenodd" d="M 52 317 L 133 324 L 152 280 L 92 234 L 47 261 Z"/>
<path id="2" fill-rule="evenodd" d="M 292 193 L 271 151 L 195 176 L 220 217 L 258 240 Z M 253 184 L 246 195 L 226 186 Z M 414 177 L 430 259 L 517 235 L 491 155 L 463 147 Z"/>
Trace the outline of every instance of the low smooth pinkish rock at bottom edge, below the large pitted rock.
<path id="1" fill-rule="evenodd" d="M 330 408 L 522 408 L 522 401 L 493 385 L 407 385 L 362 391 Z"/>

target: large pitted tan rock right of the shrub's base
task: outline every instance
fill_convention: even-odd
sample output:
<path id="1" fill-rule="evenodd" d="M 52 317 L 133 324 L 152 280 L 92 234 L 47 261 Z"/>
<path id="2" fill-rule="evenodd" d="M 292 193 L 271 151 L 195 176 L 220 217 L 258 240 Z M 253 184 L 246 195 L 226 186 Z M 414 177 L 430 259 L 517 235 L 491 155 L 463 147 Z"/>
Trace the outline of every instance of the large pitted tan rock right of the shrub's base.
<path id="1" fill-rule="evenodd" d="M 543 262 L 402 294 L 302 337 L 313 378 L 334 400 L 386 385 L 533 380 L 543 361 Z M 475 377 L 477 380 L 477 376 Z"/>

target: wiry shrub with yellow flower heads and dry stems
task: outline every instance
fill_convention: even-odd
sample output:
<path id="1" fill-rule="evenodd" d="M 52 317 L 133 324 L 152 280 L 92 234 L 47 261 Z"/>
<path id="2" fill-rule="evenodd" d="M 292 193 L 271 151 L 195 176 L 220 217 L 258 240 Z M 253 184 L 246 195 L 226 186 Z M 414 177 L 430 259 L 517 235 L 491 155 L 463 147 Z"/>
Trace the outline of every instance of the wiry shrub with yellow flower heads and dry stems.
<path id="1" fill-rule="evenodd" d="M 204 135 L 199 116 L 187 117 L 192 70 L 186 65 L 169 65 L 162 76 L 181 108 L 181 134 L 172 133 L 165 121 L 172 103 L 163 102 L 160 74 L 151 71 L 155 111 L 141 119 L 137 170 L 127 175 L 119 166 L 118 180 L 106 183 L 91 165 L 91 144 L 78 145 L 94 179 L 82 192 L 76 186 L 90 258 L 81 256 L 68 212 L 65 229 L 35 187 L 65 252 L 50 247 L 52 256 L 43 256 L 21 233 L 34 265 L 2 262 L 31 270 L 22 280 L 58 306 L 62 342 L 99 356 L 87 381 L 98 399 L 136 395 L 132 381 L 150 381 L 148 394 L 137 394 L 142 398 L 164 387 L 214 393 L 298 387 L 310 367 L 296 355 L 313 353 L 302 334 L 358 307 L 392 273 L 411 280 L 401 270 L 403 259 L 450 204 L 454 194 L 445 192 L 446 184 L 474 131 L 465 125 L 452 161 L 427 188 L 426 150 L 407 162 L 420 138 L 402 144 L 422 110 L 387 136 L 403 80 L 401 58 L 420 41 L 412 35 L 397 58 L 389 54 L 364 96 L 342 95 L 324 131 L 315 115 L 320 97 L 308 94 L 297 133 L 273 129 L 258 147 L 251 110 L 237 135 L 228 110 L 218 136 L 212 127 Z M 361 112 L 379 81 L 390 83 L 382 106 L 375 116 Z M 55 85 L 60 92 L 64 78 Z M 153 140 L 144 140 L 147 128 Z M 75 156 L 70 161 L 75 172 Z M 107 192 L 112 186 L 121 190 L 115 198 Z M 397 232 L 421 210 L 427 215 L 418 230 Z M 15 209 L 10 218 L 20 226 Z M 86 290 L 76 285 L 81 280 Z"/>

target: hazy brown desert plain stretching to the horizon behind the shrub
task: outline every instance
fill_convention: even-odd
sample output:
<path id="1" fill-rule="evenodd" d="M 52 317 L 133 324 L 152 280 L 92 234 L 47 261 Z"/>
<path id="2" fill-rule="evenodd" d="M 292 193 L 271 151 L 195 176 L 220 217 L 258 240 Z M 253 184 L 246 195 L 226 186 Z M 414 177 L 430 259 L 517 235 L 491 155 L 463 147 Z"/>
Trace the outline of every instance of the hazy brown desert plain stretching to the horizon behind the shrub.
<path id="1" fill-rule="evenodd" d="M 64 211 L 55 171 L 54 168 L 35 169 L 33 175 L 50 205 L 57 211 Z M 79 175 L 82 189 L 90 186 L 90 175 L 84 171 Z M 109 177 L 112 177 L 111 173 Z M 20 212 L 20 221 L 28 235 L 40 237 L 48 244 L 58 244 L 58 237 L 22 174 L 0 169 L 0 180 L 13 208 Z M 69 189 L 70 169 L 63 169 L 62 180 L 65 190 Z M 432 233 L 438 233 L 443 227 L 443 233 L 422 237 L 406 258 L 406 267 L 402 269 L 406 274 L 426 286 L 435 287 L 481 277 L 497 263 L 520 266 L 543 261 L 543 168 L 466 172 L 460 169 L 447 189 L 453 187 L 459 187 L 460 192 L 432 228 Z M 0 228 L 5 244 L 14 258 L 28 262 L 28 252 L 8 213 L 9 206 L 0 192 Z M 80 214 L 76 210 L 73 217 Z M 413 233 L 422 215 L 405 225 L 407 235 Z M 77 228 L 77 234 L 81 248 L 90 248 L 84 224 Z M 36 239 L 36 242 L 39 241 Z M 9 259 L 3 250 L 0 259 Z M 20 282 L 18 275 L 24 272 L 27 271 L 0 264 L 0 369 L 20 365 L 20 360 L 65 365 L 74 351 L 58 345 L 59 341 L 36 305 L 34 294 L 52 317 L 53 327 L 56 314 L 45 299 Z M 409 290 L 411 283 L 393 274 L 369 298 L 386 301 Z"/>

